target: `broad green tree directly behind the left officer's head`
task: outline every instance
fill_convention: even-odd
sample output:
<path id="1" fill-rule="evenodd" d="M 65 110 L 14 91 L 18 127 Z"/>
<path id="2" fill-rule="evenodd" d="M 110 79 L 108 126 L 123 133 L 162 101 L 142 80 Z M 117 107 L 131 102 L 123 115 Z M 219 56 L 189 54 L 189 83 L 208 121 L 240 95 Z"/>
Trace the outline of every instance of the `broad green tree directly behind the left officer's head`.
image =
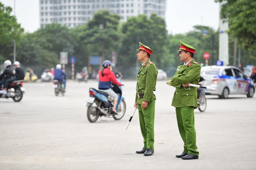
<path id="1" fill-rule="evenodd" d="M 126 67 L 135 67 L 139 42 L 149 46 L 153 51 L 150 59 L 158 68 L 168 65 L 170 58 L 167 53 L 168 40 L 165 20 L 156 14 L 152 14 L 148 19 L 146 15 L 130 17 L 123 23 L 122 48 L 119 49 L 120 63 L 125 63 Z"/>

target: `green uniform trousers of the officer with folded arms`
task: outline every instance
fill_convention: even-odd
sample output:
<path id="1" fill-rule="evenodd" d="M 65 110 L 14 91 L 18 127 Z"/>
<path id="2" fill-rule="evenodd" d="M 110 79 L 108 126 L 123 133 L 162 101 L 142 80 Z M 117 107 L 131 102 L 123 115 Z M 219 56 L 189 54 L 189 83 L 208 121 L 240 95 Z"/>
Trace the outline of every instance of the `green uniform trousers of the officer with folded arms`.
<path id="1" fill-rule="evenodd" d="M 179 134 L 184 142 L 184 151 L 188 154 L 199 155 L 196 145 L 195 132 L 195 107 L 176 107 L 176 117 L 179 128 Z"/>

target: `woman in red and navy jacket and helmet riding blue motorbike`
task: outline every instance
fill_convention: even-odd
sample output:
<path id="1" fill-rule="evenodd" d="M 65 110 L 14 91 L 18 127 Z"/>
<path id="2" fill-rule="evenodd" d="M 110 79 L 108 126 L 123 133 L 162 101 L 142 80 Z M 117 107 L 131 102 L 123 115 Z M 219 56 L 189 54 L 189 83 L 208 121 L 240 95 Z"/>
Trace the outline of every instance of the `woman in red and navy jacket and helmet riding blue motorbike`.
<path id="1" fill-rule="evenodd" d="M 111 62 L 109 60 L 103 61 L 103 69 L 99 70 L 99 90 L 106 92 L 109 96 L 113 97 L 113 109 L 112 114 L 117 114 L 116 106 L 117 106 L 117 94 L 111 89 L 111 82 L 113 84 L 117 84 L 118 86 L 123 85 L 123 83 L 119 83 L 115 78 L 114 73 L 110 70 L 111 69 Z"/>

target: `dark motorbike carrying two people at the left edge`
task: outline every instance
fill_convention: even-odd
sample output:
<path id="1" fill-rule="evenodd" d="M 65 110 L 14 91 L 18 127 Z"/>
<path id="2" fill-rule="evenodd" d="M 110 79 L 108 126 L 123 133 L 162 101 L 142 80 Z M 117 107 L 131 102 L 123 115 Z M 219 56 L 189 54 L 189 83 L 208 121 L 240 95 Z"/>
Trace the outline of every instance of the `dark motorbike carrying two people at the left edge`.
<path id="1" fill-rule="evenodd" d="M 12 98 L 15 102 L 21 101 L 23 93 L 25 93 L 25 88 L 22 86 L 24 80 L 13 81 L 7 89 L 7 94 L 0 94 L 0 97 L 5 96 L 5 98 Z"/>

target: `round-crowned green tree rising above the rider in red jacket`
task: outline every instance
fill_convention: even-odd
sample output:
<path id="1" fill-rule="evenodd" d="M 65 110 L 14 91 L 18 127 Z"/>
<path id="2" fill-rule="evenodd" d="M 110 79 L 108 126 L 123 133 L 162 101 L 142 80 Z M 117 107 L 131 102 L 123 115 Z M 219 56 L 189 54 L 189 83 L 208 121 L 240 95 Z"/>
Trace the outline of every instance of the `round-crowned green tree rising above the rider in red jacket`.
<path id="1" fill-rule="evenodd" d="M 120 34 L 117 30 L 120 16 L 100 10 L 93 19 L 83 26 L 80 38 L 83 45 L 90 49 L 91 55 L 101 55 L 105 60 L 105 52 L 111 51 L 117 45 Z"/>

